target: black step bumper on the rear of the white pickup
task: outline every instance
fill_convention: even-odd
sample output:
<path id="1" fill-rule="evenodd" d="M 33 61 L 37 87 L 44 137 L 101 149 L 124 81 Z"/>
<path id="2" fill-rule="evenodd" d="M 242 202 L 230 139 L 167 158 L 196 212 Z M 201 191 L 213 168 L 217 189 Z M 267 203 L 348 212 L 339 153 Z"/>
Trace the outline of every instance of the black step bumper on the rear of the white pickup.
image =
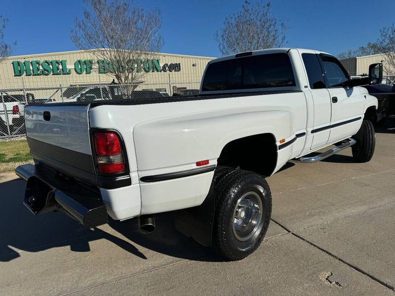
<path id="1" fill-rule="evenodd" d="M 88 228 L 108 222 L 100 192 L 78 181 L 58 178 L 40 165 L 21 165 L 15 173 L 27 181 L 23 203 L 33 214 L 62 210 Z"/>

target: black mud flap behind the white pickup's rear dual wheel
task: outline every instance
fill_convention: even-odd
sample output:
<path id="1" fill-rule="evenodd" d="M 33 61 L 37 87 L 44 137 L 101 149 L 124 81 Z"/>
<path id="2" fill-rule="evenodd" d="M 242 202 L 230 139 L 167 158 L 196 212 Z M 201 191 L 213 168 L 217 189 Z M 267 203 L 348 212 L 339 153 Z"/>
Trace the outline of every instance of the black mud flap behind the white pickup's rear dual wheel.
<path id="1" fill-rule="evenodd" d="M 206 247 L 211 245 L 212 238 L 215 213 L 214 185 L 212 182 L 208 195 L 200 206 L 180 210 L 174 214 L 175 228 Z"/>

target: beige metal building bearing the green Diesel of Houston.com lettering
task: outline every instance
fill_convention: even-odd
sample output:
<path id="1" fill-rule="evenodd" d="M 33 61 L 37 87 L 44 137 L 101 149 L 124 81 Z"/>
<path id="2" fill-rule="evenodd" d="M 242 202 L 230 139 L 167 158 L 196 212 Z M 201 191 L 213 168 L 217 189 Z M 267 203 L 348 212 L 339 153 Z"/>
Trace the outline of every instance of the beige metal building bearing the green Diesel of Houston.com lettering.
<path id="1" fill-rule="evenodd" d="M 165 85 L 168 89 L 169 85 L 175 83 L 195 83 L 193 87 L 196 88 L 207 63 L 214 59 L 166 53 L 159 53 L 155 57 L 140 66 L 139 70 L 144 72 L 139 81 L 140 89 L 146 87 L 155 90 Z M 95 59 L 93 54 L 82 50 L 12 56 L 0 64 L 0 89 L 112 82 L 114 77 L 100 71 L 100 60 Z M 158 87 L 154 84 L 158 84 Z"/>

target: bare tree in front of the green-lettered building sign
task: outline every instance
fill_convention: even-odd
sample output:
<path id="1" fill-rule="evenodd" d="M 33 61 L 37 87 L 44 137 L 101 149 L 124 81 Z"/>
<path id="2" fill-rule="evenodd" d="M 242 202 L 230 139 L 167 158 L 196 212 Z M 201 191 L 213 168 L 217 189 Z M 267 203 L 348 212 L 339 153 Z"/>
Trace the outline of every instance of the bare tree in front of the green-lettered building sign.
<path id="1" fill-rule="evenodd" d="M 128 84 L 122 92 L 129 97 L 132 84 L 147 72 L 143 70 L 153 69 L 152 60 L 162 47 L 160 11 L 145 11 L 127 0 L 85 0 L 85 4 L 71 39 L 96 57 L 100 73 Z"/>

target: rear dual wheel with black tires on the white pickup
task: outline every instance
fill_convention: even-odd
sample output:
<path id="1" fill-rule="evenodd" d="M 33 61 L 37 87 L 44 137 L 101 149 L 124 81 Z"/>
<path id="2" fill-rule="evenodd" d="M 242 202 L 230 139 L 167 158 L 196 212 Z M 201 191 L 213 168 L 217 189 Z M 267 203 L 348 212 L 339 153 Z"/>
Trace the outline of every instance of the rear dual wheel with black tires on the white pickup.
<path id="1" fill-rule="evenodd" d="M 269 185 L 262 176 L 256 173 L 228 170 L 220 179 L 217 179 L 215 195 L 217 203 L 212 248 L 228 260 L 243 259 L 259 247 L 268 230 L 272 214 L 272 195 Z M 237 207 L 243 201 L 251 205 L 254 205 L 255 201 L 257 207 Z M 256 216 L 250 216 L 249 208 L 261 210 L 253 212 Z M 244 211 L 242 209 L 245 210 L 245 216 L 237 216 L 242 217 L 238 219 L 235 215 L 236 213 L 240 215 L 240 210 Z M 260 215 L 257 214 L 258 212 Z M 257 216 L 260 217 L 259 220 Z M 240 227 L 236 222 L 244 223 L 244 219 L 247 226 Z M 249 221 L 256 223 L 248 223 Z M 243 231 L 247 235 L 241 236 Z"/>

